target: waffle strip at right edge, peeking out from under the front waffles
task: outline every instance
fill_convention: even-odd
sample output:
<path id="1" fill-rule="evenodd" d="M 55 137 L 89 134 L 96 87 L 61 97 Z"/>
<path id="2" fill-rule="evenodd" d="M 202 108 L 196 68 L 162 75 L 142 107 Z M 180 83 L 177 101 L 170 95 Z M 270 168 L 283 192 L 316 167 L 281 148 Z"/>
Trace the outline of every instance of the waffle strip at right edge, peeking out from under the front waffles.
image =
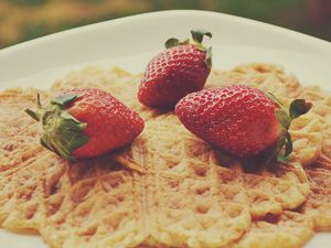
<path id="1" fill-rule="evenodd" d="M 310 194 L 301 212 L 312 217 L 314 229 L 331 230 L 331 95 L 318 87 L 307 87 L 299 97 L 316 103 L 312 112 L 322 123 L 322 150 L 318 160 L 306 169 Z"/>

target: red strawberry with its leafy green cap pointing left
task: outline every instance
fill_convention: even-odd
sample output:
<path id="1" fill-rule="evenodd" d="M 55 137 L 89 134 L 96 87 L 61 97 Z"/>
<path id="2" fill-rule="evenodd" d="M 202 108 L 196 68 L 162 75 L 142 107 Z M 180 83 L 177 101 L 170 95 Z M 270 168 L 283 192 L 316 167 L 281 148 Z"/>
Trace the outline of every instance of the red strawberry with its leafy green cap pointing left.
<path id="1" fill-rule="evenodd" d="M 139 115 L 110 94 L 94 88 L 67 89 L 46 107 L 25 110 L 41 121 L 41 143 L 63 158 L 102 155 L 131 142 L 143 129 Z"/>

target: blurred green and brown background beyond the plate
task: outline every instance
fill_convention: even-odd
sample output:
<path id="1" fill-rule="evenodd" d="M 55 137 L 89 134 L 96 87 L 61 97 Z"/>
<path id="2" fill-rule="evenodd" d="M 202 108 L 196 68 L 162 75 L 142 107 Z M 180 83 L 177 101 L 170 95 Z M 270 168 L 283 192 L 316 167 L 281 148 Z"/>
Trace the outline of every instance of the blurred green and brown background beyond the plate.
<path id="1" fill-rule="evenodd" d="M 171 9 L 229 13 L 331 41 L 331 0 L 0 0 L 0 48 L 89 23 Z"/>

